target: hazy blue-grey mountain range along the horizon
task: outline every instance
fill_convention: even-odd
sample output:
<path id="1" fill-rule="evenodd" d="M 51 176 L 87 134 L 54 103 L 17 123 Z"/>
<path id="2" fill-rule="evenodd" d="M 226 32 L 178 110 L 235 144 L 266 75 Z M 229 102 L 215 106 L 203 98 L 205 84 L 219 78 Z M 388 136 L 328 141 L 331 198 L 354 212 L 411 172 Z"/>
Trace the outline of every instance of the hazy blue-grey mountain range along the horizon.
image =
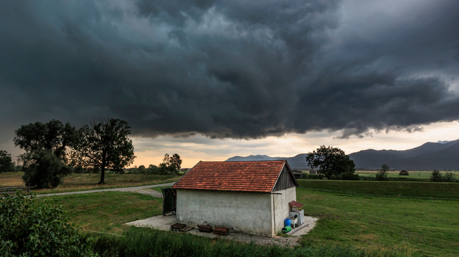
<path id="1" fill-rule="evenodd" d="M 309 169 L 305 156 L 306 154 L 293 157 L 234 156 L 226 161 L 287 160 L 292 169 Z M 349 157 L 357 169 L 378 169 L 387 164 L 391 169 L 398 170 L 455 170 L 459 168 L 459 140 L 426 142 L 408 150 L 367 149 L 349 154 Z"/>

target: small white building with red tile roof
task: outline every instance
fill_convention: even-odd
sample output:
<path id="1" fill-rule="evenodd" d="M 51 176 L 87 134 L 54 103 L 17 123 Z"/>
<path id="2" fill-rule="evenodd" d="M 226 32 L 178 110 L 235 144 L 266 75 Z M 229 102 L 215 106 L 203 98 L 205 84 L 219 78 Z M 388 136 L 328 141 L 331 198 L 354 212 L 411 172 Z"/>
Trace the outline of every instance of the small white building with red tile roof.
<path id="1" fill-rule="evenodd" d="M 296 201 L 287 160 L 200 162 L 172 186 L 177 220 L 275 236 Z"/>

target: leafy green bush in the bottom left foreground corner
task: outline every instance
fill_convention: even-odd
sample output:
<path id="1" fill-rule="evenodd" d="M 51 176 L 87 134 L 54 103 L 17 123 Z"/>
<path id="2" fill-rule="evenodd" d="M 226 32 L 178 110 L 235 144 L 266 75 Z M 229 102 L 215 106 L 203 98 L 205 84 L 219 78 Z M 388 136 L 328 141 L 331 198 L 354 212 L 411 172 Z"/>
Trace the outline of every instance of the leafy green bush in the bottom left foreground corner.
<path id="1" fill-rule="evenodd" d="M 63 206 L 35 195 L 5 194 L 0 199 L 0 256 L 98 256 L 91 239 L 69 224 Z"/>

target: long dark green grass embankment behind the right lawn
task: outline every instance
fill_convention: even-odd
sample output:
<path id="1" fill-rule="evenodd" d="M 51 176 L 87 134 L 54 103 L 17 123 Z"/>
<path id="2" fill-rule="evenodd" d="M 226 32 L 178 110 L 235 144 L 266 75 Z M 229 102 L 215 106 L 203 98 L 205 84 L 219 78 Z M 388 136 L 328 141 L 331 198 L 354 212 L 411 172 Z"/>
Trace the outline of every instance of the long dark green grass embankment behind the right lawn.
<path id="1" fill-rule="evenodd" d="M 310 189 L 391 197 L 434 197 L 459 199 L 459 183 L 405 182 L 405 181 L 323 181 L 298 180 Z"/>

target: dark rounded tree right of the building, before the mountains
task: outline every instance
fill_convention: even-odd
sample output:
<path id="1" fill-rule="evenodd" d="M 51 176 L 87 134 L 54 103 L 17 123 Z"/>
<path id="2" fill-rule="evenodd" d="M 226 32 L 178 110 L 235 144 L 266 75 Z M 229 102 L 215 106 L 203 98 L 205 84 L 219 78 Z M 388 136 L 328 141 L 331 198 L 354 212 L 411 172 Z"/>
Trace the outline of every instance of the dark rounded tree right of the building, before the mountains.
<path id="1" fill-rule="evenodd" d="M 341 174 L 349 174 L 352 179 L 355 172 L 354 161 L 346 156 L 343 150 L 335 147 L 322 145 L 316 151 L 306 155 L 306 162 L 312 169 L 319 167 L 317 173 L 327 179 Z"/>

